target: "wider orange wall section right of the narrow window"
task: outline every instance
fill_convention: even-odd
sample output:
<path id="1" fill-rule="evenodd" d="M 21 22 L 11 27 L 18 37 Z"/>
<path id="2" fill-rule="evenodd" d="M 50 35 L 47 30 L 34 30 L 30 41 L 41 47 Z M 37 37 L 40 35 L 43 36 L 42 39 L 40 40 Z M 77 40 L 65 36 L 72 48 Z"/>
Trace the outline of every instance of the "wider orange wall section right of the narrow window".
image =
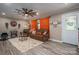
<path id="1" fill-rule="evenodd" d="M 49 17 L 40 19 L 40 29 L 49 30 Z"/>

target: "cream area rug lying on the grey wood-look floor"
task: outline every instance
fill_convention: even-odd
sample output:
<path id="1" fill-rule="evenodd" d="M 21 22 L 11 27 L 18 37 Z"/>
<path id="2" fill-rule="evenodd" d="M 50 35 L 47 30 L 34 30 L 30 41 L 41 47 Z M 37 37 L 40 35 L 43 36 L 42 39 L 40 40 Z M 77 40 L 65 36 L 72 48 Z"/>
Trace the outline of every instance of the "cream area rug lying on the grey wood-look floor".
<path id="1" fill-rule="evenodd" d="M 9 39 L 9 42 L 16 47 L 20 52 L 26 52 L 36 46 L 42 44 L 43 42 L 29 38 L 25 41 L 20 41 L 19 38 Z"/>

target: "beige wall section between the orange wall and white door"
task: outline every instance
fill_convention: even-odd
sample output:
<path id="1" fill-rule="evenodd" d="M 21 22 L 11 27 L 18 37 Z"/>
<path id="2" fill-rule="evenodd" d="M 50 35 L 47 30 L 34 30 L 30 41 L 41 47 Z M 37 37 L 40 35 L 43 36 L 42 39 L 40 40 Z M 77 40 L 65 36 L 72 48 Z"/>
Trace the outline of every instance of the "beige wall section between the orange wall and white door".
<path id="1" fill-rule="evenodd" d="M 61 23 L 61 15 L 51 16 L 50 21 L 54 22 L 54 20 Z M 50 24 L 51 40 L 61 41 L 61 37 L 62 37 L 61 34 L 62 34 L 61 24 L 58 24 L 56 27 L 53 24 Z"/>

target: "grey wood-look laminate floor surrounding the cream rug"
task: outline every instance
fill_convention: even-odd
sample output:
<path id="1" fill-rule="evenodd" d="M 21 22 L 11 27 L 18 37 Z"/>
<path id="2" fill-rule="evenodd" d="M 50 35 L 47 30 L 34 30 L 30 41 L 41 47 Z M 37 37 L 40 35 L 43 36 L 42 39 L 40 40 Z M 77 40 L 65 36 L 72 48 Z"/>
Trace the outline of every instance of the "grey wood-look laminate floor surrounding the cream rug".
<path id="1" fill-rule="evenodd" d="M 76 50 L 74 45 L 48 41 L 21 53 L 8 40 L 0 41 L 0 55 L 78 55 Z"/>

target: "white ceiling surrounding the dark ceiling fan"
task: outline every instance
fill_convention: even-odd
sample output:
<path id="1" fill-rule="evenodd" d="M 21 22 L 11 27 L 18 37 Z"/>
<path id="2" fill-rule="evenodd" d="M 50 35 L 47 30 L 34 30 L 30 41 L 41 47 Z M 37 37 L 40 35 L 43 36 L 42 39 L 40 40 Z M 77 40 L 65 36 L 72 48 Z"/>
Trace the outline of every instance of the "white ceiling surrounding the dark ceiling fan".
<path id="1" fill-rule="evenodd" d="M 15 12 L 15 9 L 28 8 L 35 9 L 38 11 L 40 18 L 48 17 L 54 14 L 68 12 L 79 8 L 79 4 L 64 4 L 64 3 L 0 3 L 0 16 L 2 12 L 5 12 L 6 15 L 3 17 L 15 18 L 15 19 L 24 19 L 23 16 L 18 15 Z"/>

